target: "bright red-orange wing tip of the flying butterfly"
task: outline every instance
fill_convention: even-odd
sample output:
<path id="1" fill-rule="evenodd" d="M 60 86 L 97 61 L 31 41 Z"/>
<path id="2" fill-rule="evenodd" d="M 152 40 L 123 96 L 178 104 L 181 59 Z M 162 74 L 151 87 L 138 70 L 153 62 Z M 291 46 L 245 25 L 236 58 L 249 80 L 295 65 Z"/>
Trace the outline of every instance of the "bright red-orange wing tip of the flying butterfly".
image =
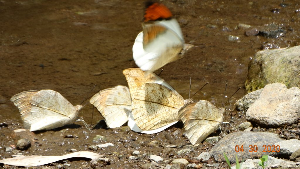
<path id="1" fill-rule="evenodd" d="M 167 19 L 172 17 L 172 13 L 171 11 L 162 4 L 159 3 L 153 3 L 152 5 L 150 5 L 146 11 L 145 11 L 145 22 L 149 21 L 149 20 L 158 20 L 160 18 L 162 19 Z"/>

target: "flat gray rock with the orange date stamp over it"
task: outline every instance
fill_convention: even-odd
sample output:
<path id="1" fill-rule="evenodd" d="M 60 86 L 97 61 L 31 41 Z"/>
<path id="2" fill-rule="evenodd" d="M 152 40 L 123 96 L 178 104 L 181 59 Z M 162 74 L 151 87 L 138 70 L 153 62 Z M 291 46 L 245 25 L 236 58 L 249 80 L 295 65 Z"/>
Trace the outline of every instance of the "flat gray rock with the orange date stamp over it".
<path id="1" fill-rule="evenodd" d="M 228 156 L 230 162 L 235 162 L 235 148 L 236 146 L 243 146 L 244 151 L 238 152 L 238 158 L 239 159 L 253 159 L 253 158 L 259 158 L 264 154 L 267 155 L 276 155 L 277 152 L 262 152 L 263 151 L 263 145 L 273 145 L 274 143 L 277 143 L 279 141 L 282 141 L 278 137 L 277 134 L 274 133 L 266 133 L 266 132 L 234 132 L 231 134 L 226 135 L 222 138 L 209 152 L 216 161 L 225 161 L 225 158 L 223 157 L 223 152 L 226 153 Z M 255 143 L 255 144 L 254 144 Z M 249 152 L 250 148 L 249 146 L 256 145 L 257 146 L 257 152 Z M 238 148 L 237 148 L 238 149 Z M 250 150 L 251 151 L 251 150 Z"/>

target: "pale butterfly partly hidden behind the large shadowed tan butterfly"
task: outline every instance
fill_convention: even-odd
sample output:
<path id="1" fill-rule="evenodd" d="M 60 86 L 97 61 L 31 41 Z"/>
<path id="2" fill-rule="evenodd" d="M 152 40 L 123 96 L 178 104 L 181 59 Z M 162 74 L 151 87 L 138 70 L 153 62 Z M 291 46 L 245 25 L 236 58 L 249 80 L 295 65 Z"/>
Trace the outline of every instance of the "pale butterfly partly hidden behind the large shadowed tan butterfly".
<path id="1" fill-rule="evenodd" d="M 90 103 L 98 109 L 109 128 L 120 127 L 128 121 L 131 102 L 126 86 L 102 90 L 90 99 Z"/>

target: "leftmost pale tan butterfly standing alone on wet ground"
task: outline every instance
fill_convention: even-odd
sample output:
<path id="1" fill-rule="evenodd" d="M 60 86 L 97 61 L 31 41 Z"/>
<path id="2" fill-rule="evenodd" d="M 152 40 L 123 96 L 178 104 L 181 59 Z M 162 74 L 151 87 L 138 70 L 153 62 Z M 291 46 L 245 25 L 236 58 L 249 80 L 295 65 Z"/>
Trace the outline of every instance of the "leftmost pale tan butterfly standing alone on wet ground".
<path id="1" fill-rule="evenodd" d="M 51 130 L 73 123 L 81 105 L 73 106 L 52 90 L 23 91 L 10 99 L 18 107 L 24 128 L 30 131 Z"/>

